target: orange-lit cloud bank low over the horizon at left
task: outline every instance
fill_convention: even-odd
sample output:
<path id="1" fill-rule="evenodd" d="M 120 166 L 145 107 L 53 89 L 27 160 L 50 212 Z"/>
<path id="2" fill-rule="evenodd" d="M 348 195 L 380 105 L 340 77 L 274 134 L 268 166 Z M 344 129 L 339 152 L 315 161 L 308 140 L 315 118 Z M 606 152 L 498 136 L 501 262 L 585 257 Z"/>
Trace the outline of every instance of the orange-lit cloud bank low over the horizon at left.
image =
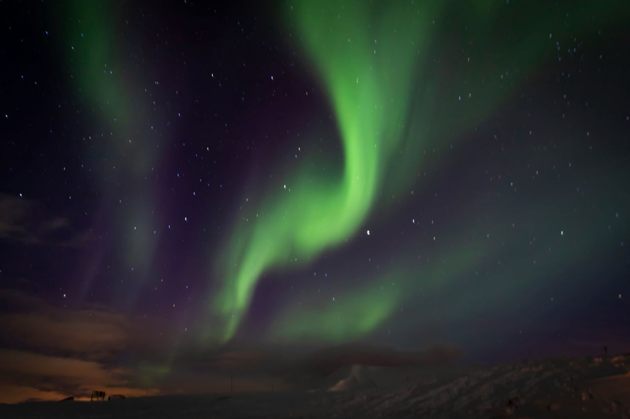
<path id="1" fill-rule="evenodd" d="M 142 371 L 119 359 L 147 342 L 137 320 L 103 306 L 58 308 L 20 291 L 0 289 L 0 402 L 87 398 L 92 389 L 129 396 L 159 390 L 139 387 Z M 146 384 L 146 383 L 143 383 Z"/>

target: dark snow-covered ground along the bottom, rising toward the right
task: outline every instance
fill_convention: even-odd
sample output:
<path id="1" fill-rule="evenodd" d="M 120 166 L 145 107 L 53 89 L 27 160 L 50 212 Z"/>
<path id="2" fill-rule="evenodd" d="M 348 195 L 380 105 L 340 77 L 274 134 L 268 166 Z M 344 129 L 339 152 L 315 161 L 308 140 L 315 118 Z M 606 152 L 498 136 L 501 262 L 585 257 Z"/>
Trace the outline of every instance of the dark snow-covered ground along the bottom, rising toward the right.
<path id="1" fill-rule="evenodd" d="M 433 369 L 352 369 L 345 391 L 0 405 L 2 418 L 628 418 L 630 354 Z M 368 377 L 369 376 L 369 377 Z M 365 383 L 370 382 L 370 388 Z M 395 381 L 395 380 L 394 380 Z M 359 389 L 346 389 L 347 383 Z M 374 386 L 372 386 L 374 383 Z M 352 387 L 352 386 L 350 386 Z"/>

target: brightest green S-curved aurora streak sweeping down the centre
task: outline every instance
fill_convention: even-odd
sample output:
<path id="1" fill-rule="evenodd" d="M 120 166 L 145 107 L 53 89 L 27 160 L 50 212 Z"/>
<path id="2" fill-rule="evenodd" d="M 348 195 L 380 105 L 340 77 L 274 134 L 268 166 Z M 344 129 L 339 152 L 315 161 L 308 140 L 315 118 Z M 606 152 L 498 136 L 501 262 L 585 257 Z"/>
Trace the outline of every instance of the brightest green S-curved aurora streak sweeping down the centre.
<path id="1" fill-rule="evenodd" d="M 304 48 L 331 92 L 343 174 L 338 186 L 314 187 L 309 174 L 301 172 L 287 181 L 290 191 L 266 201 L 251 230 L 237 229 L 227 252 L 227 281 L 215 299 L 227 318 L 224 340 L 236 332 L 263 272 L 290 261 L 302 263 L 357 231 L 402 138 L 421 25 L 406 6 L 386 11 L 377 26 L 369 24 L 360 3 L 343 10 L 344 18 L 337 18 L 343 7 L 322 13 L 316 6 L 301 4 L 288 18 L 299 22 Z M 399 29 L 392 31 L 395 25 Z"/>

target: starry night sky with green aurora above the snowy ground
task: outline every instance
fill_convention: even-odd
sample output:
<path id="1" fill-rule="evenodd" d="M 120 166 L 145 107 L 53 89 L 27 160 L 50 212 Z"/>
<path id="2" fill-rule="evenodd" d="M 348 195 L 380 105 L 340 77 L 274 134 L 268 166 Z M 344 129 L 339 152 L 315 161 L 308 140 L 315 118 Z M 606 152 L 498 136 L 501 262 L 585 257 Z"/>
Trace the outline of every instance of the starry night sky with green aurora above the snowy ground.
<path id="1" fill-rule="evenodd" d="M 2 1 L 0 401 L 627 352 L 629 18 Z"/>

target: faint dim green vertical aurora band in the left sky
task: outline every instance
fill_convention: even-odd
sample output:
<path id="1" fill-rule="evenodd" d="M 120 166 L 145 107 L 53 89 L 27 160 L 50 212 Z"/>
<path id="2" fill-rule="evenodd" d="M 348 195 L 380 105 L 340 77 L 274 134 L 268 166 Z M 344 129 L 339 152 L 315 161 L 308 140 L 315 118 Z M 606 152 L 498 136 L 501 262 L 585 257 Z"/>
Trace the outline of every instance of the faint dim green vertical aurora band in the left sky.
<path id="1" fill-rule="evenodd" d="M 154 223 L 147 219 L 155 198 L 146 179 L 161 160 L 149 123 L 137 124 L 149 120 L 148 105 L 134 100 L 132 92 L 139 82 L 126 68 L 125 52 L 113 35 L 112 22 L 116 21 L 113 4 L 71 1 L 64 6 L 66 19 L 58 30 L 60 53 L 67 56 L 67 72 L 83 105 L 81 118 L 90 120 L 94 127 L 89 145 L 100 146 L 91 158 L 98 163 L 95 167 L 100 177 L 106 179 L 103 189 L 109 191 L 111 184 L 122 184 L 127 191 L 143 191 L 134 194 L 135 198 L 129 200 L 130 208 L 119 211 L 117 217 L 127 231 L 137 228 L 127 237 L 129 248 L 121 252 L 122 259 L 146 272 L 156 245 L 152 234 Z M 52 7 L 55 9 L 50 13 L 57 13 L 58 5 Z M 98 135 L 103 132 L 108 135 Z M 110 161 L 119 162 L 117 168 L 112 169 Z M 106 200 L 118 201 L 118 198 L 120 191 Z M 137 289 L 129 293 L 129 304 L 136 298 L 141 283 L 138 281 Z"/>

